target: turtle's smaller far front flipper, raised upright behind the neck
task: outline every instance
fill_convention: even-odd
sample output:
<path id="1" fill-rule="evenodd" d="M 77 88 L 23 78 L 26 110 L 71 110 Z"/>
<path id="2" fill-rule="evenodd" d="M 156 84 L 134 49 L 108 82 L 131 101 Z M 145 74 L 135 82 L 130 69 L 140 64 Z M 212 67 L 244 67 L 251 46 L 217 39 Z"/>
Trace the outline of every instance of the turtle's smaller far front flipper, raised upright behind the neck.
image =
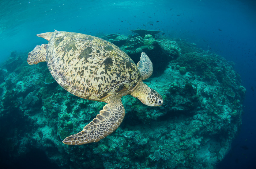
<path id="1" fill-rule="evenodd" d="M 149 78 L 153 73 L 153 64 L 145 52 L 141 53 L 140 61 L 137 63 L 142 80 Z"/>

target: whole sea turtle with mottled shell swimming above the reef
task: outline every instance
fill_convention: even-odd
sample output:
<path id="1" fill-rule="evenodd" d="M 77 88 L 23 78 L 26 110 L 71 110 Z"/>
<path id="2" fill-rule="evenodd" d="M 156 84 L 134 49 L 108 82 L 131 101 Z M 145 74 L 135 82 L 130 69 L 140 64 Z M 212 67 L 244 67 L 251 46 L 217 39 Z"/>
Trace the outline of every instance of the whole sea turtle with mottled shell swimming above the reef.
<path id="1" fill-rule="evenodd" d="M 37 45 L 29 53 L 29 64 L 46 61 L 53 78 L 65 90 L 107 103 L 81 132 L 65 138 L 64 144 L 98 142 L 113 133 L 124 119 L 124 95 L 132 95 L 147 106 L 163 104 L 162 96 L 142 82 L 153 72 L 152 62 L 144 52 L 136 65 L 125 52 L 101 38 L 59 31 L 37 36 L 49 43 Z"/>

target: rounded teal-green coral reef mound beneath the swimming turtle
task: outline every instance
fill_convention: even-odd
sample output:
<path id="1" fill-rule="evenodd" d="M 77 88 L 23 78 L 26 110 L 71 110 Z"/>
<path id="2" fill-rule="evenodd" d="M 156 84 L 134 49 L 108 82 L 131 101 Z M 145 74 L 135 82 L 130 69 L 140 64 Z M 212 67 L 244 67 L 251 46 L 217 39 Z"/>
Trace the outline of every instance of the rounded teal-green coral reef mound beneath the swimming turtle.
<path id="1" fill-rule="evenodd" d="M 12 53 L 8 60 L 14 60 L 13 66 L 5 62 L 0 68 L 3 153 L 15 161 L 37 148 L 69 169 L 215 168 L 241 126 L 246 89 L 240 76 L 232 63 L 213 52 L 184 40 L 143 34 L 144 39 L 121 35 L 111 41 L 129 43 L 116 44 L 135 63 L 142 51 L 147 53 L 154 73 L 144 82 L 158 89 L 164 104 L 148 107 L 123 97 L 122 125 L 107 138 L 82 146 L 64 145 L 62 140 L 81 131 L 105 103 L 76 97 L 57 83 L 46 84 L 50 72 L 45 63 L 30 66 L 28 52 Z"/>

